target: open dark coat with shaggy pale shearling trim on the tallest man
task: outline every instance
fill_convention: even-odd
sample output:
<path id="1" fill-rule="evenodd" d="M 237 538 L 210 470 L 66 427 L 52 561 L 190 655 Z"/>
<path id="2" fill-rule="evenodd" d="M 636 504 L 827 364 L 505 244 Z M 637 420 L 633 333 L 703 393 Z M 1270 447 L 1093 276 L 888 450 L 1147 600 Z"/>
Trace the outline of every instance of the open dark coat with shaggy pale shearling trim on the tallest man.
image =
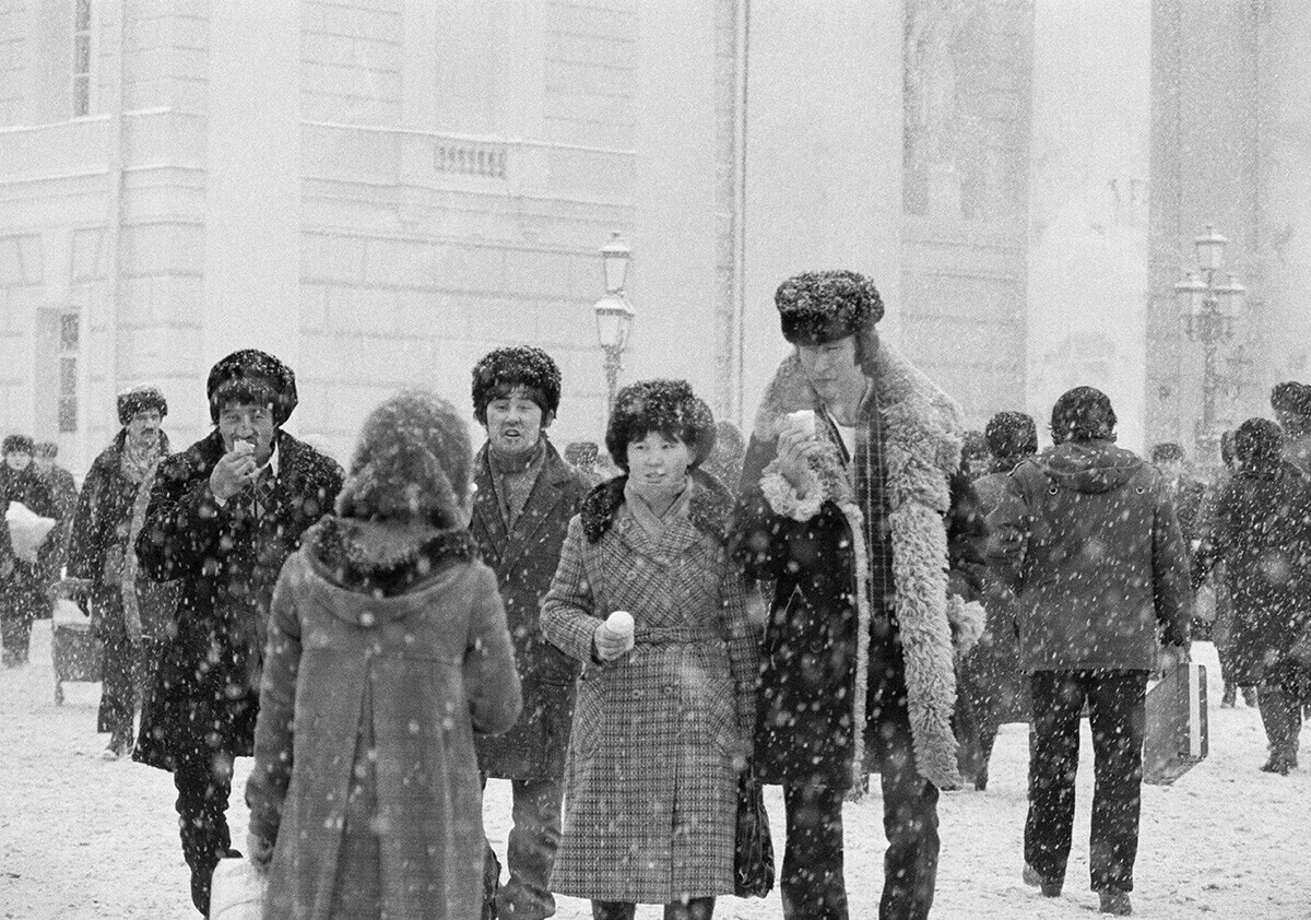
<path id="1" fill-rule="evenodd" d="M 986 532 L 961 472 L 964 426 L 956 404 L 886 343 L 864 367 L 861 426 L 884 459 L 880 508 L 840 495 L 798 499 L 776 472 L 783 417 L 813 409 L 826 418 L 796 354 L 779 367 L 751 435 L 735 552 L 750 578 L 772 583 L 754 764 L 766 782 L 861 786 L 877 767 L 865 752 L 884 670 L 899 657 L 915 768 L 957 788 L 953 638 L 969 645 L 985 619 Z M 890 596 L 869 596 L 871 565 L 888 558 L 867 543 L 871 511 L 890 541 Z"/>

